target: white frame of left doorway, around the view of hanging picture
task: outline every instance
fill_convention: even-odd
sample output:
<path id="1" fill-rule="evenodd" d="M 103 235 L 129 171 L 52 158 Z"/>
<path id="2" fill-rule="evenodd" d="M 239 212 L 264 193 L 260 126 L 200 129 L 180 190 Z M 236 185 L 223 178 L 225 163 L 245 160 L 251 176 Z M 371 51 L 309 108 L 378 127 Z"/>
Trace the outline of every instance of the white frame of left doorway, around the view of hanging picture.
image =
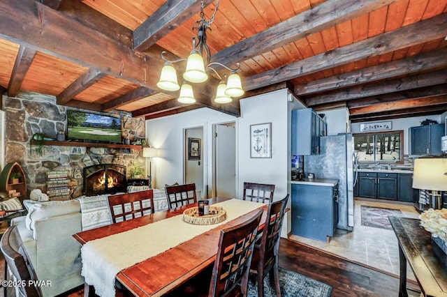
<path id="1" fill-rule="evenodd" d="M 195 128 L 202 128 L 202 151 L 203 155 L 200 158 L 200 161 L 203 164 L 203 188 L 196 190 L 200 190 L 203 197 L 206 198 L 207 192 L 207 124 L 203 123 L 200 125 L 191 125 L 191 126 L 185 126 L 182 128 L 182 139 L 183 139 L 183 148 L 182 148 L 182 183 L 186 183 L 186 161 L 188 160 L 188 139 L 186 138 L 186 130 L 189 129 L 195 129 Z"/>

